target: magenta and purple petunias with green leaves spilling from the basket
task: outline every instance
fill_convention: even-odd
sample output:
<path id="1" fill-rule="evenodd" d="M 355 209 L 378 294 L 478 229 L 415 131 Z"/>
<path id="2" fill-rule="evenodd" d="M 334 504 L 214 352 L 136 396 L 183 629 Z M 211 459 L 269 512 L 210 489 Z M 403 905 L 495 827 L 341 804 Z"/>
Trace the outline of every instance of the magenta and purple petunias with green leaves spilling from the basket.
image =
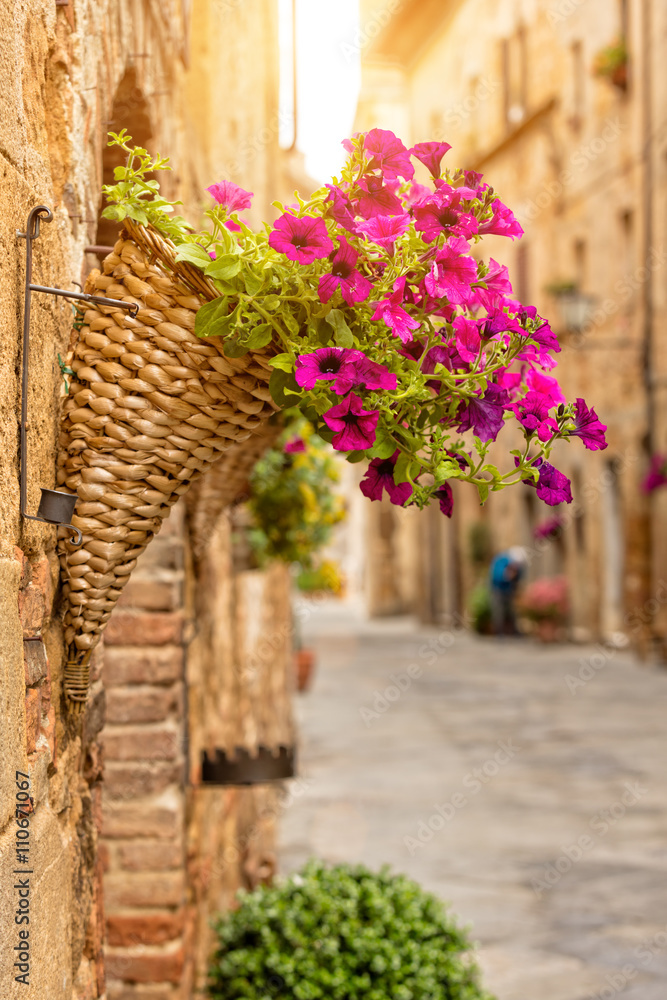
<path id="1" fill-rule="evenodd" d="M 361 489 L 371 500 L 437 502 L 450 516 L 459 480 L 482 502 L 522 482 L 547 504 L 571 502 L 551 449 L 572 437 L 605 448 L 606 427 L 583 399 L 566 401 L 550 374 L 560 346 L 549 324 L 513 298 L 507 268 L 483 257 L 485 235 L 517 239 L 521 226 L 480 174 L 443 169 L 447 143 L 408 149 L 373 129 L 344 145 L 341 177 L 308 200 L 275 203 L 279 217 L 260 232 L 239 216 L 251 194 L 229 181 L 208 189 L 200 232 L 174 225 L 163 202 L 152 216 L 141 195 L 178 259 L 219 290 L 197 313 L 197 334 L 223 338 L 232 357 L 269 354 L 274 400 L 298 406 L 348 461 L 369 461 Z M 417 162 L 428 185 L 415 181 Z M 133 197 L 120 199 L 128 215 Z M 489 452 L 506 425 L 521 443 L 498 467 Z"/>

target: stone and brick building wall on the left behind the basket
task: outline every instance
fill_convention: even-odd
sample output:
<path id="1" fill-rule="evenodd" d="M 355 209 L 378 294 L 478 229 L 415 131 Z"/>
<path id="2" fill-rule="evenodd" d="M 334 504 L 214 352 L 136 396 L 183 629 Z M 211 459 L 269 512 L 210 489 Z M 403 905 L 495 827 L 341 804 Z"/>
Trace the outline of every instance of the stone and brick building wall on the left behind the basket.
<path id="1" fill-rule="evenodd" d="M 206 609 L 193 597 L 201 567 L 185 508 L 174 512 L 138 568 L 137 585 L 124 595 L 106 650 L 98 650 L 83 717 L 65 711 L 56 529 L 19 515 L 25 243 L 16 234 L 30 209 L 45 204 L 54 217 L 35 241 L 33 281 L 73 289 L 97 266 L 101 248 L 115 240 L 114 227 L 100 219 L 101 186 L 116 165 L 106 133 L 123 127 L 171 157 L 165 190 L 194 218 L 205 186 L 225 176 L 255 192 L 253 223 L 271 217 L 271 201 L 295 186 L 278 143 L 276 19 L 274 0 L 0 5 L 3 998 L 188 997 L 201 982 L 209 944 L 202 913 L 271 870 L 271 793 L 186 787 L 196 778 L 197 733 L 212 725 L 188 701 L 188 684 L 203 683 L 215 664 L 196 650 L 198 615 L 205 618 Z M 31 513 L 39 487 L 54 485 L 63 392 L 58 355 L 67 353 L 72 320 L 65 300 L 32 298 Z M 220 561 L 209 599 L 218 596 L 219 627 L 227 621 L 232 634 L 234 572 L 220 516 Z M 278 586 L 286 592 L 284 583 Z M 284 601 L 269 600 L 269 607 L 283 636 L 284 678 L 287 610 Z M 23 877 L 13 874 L 17 830 L 28 831 L 30 851 L 22 851 L 30 864 L 28 896 L 12 888 Z M 221 852 L 230 845 L 225 860 Z M 26 898 L 27 987 L 13 965 L 15 946 L 25 951 L 15 915 Z"/>

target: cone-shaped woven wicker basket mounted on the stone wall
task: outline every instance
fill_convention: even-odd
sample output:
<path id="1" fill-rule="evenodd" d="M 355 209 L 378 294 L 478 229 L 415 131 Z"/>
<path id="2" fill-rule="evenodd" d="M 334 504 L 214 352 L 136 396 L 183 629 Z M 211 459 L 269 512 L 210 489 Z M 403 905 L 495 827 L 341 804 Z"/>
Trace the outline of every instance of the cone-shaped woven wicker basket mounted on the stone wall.
<path id="1" fill-rule="evenodd" d="M 197 310 L 219 293 L 158 233 L 127 222 L 86 290 L 140 308 L 132 318 L 91 305 L 69 357 L 58 483 L 79 497 L 83 544 L 61 541 L 60 561 L 65 689 L 79 704 L 137 557 L 191 484 L 221 453 L 238 456 L 276 409 L 267 351 L 226 358 L 219 338 L 195 336 Z"/>

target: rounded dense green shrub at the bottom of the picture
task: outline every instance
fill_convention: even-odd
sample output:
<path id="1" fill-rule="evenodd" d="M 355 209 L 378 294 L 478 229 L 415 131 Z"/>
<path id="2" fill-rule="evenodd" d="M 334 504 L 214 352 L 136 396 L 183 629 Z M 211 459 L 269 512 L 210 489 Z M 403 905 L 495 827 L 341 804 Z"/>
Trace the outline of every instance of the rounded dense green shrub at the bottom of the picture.
<path id="1" fill-rule="evenodd" d="M 445 906 L 403 875 L 310 861 L 216 926 L 216 1000 L 492 1000 Z"/>

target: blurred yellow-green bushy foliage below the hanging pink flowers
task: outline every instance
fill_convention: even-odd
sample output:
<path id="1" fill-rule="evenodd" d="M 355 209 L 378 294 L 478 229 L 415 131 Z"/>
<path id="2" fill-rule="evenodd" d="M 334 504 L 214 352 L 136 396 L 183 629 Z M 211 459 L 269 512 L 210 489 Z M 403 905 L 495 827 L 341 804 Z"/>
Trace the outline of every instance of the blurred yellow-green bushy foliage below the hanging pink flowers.
<path id="1" fill-rule="evenodd" d="M 284 373 L 276 369 L 274 374 Z M 305 450 L 285 452 L 285 444 L 295 439 Z M 260 565 L 280 559 L 316 568 L 313 557 L 344 516 L 342 499 L 334 492 L 338 478 L 328 445 L 303 418 L 291 421 L 250 479 L 248 539 Z"/>

